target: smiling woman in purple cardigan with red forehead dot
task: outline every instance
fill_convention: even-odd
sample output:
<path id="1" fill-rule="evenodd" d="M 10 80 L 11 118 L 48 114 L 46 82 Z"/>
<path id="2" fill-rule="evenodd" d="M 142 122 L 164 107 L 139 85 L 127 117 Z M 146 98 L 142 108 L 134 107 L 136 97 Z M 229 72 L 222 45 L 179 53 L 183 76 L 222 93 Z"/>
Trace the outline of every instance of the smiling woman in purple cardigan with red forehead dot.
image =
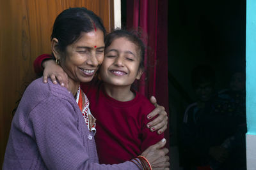
<path id="1" fill-rule="evenodd" d="M 53 85 L 51 81 L 42 83 L 42 78 L 29 85 L 13 117 L 3 169 L 150 169 L 150 165 L 153 169 L 164 169 L 169 166 L 168 157 L 164 156 L 168 150 L 159 149 L 165 142 L 150 146 L 141 154 L 144 157 L 122 164 L 98 163 L 91 131 L 93 117 L 79 84 L 92 80 L 104 58 L 104 32 L 100 18 L 85 8 L 70 8 L 58 15 L 51 47 L 56 63 L 68 74 L 68 88 Z M 92 124 L 86 125 L 86 121 Z"/>

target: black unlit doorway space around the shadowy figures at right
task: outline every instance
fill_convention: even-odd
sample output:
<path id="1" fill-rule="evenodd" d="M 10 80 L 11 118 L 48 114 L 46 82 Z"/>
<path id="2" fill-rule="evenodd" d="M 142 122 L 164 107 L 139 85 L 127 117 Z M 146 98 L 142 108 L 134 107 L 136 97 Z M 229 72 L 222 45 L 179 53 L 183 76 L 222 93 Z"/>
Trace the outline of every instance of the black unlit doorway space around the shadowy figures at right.
<path id="1" fill-rule="evenodd" d="M 127 2 L 121 1 L 123 28 Z M 190 81 L 192 69 L 199 64 L 210 65 L 216 71 L 216 90 L 228 88 L 230 74 L 237 69 L 245 70 L 245 35 L 246 1 L 168 1 L 171 147 L 179 147 L 184 111 L 196 101 Z M 177 160 L 179 150 L 175 152 L 170 155 Z"/>

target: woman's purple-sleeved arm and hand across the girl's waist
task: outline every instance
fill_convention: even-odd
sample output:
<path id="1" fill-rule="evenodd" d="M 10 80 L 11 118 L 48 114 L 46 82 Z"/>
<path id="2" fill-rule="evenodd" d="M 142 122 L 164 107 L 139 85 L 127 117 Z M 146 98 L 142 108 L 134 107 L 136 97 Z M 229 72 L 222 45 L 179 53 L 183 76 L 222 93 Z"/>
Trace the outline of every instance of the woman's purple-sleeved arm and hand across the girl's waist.
<path id="1" fill-rule="evenodd" d="M 113 165 L 90 162 L 90 155 L 86 152 L 84 140 L 77 129 L 74 106 L 66 99 L 48 97 L 30 115 L 38 150 L 48 169 L 138 169 L 130 161 Z M 88 140 L 90 142 L 93 141 Z M 168 167 L 168 157 L 165 156 L 168 150 L 161 149 L 165 143 L 161 141 L 150 146 L 142 154 L 154 168 Z M 92 145 L 88 144 L 90 147 Z"/>

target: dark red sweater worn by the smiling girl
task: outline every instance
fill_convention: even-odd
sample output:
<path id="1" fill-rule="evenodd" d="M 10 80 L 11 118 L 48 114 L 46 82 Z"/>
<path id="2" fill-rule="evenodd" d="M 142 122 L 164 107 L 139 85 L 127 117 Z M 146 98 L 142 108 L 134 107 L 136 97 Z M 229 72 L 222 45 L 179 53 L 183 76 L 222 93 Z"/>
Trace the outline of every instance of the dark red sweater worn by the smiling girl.
<path id="1" fill-rule="evenodd" d="M 49 59 L 46 55 L 40 57 L 35 60 L 34 67 L 41 67 L 38 61 Z M 146 127 L 149 122 L 147 115 L 154 110 L 154 105 L 145 96 L 136 92 L 132 101 L 120 102 L 104 93 L 100 83 L 81 83 L 81 89 L 90 101 L 93 117 L 97 119 L 95 141 L 100 164 L 131 160 L 164 138 L 163 134 L 150 132 Z"/>

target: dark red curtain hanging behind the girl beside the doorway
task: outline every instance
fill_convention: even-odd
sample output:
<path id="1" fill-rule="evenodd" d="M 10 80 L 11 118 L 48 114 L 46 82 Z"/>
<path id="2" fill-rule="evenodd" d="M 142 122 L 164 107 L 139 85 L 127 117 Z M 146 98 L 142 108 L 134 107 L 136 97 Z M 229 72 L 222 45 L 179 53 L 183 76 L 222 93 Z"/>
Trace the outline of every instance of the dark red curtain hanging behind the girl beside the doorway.
<path id="1" fill-rule="evenodd" d="M 126 24 L 127 29 L 142 31 L 147 46 L 138 90 L 147 97 L 156 96 L 168 113 L 168 0 L 127 1 Z M 169 139 L 168 129 L 165 138 Z"/>

